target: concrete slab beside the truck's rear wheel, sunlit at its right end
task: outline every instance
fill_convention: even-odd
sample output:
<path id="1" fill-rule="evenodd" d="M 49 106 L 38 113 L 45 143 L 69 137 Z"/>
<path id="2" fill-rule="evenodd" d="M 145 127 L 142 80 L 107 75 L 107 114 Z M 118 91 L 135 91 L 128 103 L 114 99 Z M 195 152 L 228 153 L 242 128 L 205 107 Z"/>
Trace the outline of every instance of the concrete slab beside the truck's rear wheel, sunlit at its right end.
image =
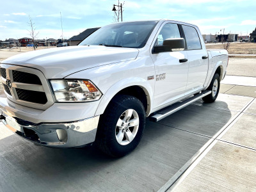
<path id="1" fill-rule="evenodd" d="M 204 100 L 197 100 L 194 104 L 198 106 L 207 106 L 211 108 L 224 109 L 228 111 L 241 111 L 252 97 L 243 97 L 238 95 L 227 95 L 220 93 L 215 102 L 205 103 Z"/>

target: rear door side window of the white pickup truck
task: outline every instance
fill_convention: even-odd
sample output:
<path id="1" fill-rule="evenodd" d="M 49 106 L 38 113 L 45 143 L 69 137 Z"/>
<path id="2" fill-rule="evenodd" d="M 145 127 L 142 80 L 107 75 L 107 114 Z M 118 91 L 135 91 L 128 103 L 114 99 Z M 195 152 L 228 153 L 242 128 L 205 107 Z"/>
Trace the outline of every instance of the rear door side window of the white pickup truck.
<path id="1" fill-rule="evenodd" d="M 186 37 L 188 50 L 202 49 L 200 39 L 196 29 L 190 26 L 183 26 L 183 25 L 182 25 L 182 29 Z"/>

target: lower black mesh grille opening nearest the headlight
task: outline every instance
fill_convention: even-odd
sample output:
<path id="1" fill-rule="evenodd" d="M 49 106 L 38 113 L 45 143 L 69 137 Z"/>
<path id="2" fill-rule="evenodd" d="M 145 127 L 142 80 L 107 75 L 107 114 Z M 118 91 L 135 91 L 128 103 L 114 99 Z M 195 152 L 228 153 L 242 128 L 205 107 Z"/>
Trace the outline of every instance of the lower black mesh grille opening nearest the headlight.
<path id="1" fill-rule="evenodd" d="M 16 88 L 16 92 L 20 100 L 26 100 L 28 102 L 35 102 L 39 104 L 45 104 L 47 102 L 47 97 L 44 92 L 22 90 L 19 88 Z"/>

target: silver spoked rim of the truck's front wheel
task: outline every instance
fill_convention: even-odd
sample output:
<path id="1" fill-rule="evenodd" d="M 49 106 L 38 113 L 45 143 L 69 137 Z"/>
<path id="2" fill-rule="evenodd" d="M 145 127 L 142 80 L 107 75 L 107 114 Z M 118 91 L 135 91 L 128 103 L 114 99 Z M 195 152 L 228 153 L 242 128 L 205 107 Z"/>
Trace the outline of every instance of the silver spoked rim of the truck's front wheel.
<path id="1" fill-rule="evenodd" d="M 139 115 L 134 109 L 124 111 L 116 123 L 116 141 L 120 145 L 131 143 L 138 132 L 139 124 Z"/>

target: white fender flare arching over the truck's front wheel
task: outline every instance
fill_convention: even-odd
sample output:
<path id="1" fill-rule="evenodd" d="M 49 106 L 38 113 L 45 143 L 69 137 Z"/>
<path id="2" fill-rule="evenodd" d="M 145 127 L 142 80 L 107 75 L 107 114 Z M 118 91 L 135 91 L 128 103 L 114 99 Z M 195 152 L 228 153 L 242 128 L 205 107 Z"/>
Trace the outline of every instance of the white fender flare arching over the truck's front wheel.
<path id="1" fill-rule="evenodd" d="M 124 90 L 124 88 L 127 88 L 129 86 L 140 86 L 145 92 L 148 104 L 146 116 L 148 116 L 150 114 L 151 106 L 154 99 L 154 90 L 152 90 L 152 87 L 145 79 L 140 77 L 130 77 L 127 79 L 122 79 L 121 81 L 118 81 L 117 83 L 113 84 L 113 86 L 111 86 L 108 89 L 108 91 L 104 95 L 102 95 L 103 97 L 100 100 L 99 106 L 95 112 L 95 116 L 102 115 L 102 113 L 104 113 L 109 102 L 111 101 L 111 99 L 113 99 L 116 93 L 120 92 L 121 90 Z"/>

